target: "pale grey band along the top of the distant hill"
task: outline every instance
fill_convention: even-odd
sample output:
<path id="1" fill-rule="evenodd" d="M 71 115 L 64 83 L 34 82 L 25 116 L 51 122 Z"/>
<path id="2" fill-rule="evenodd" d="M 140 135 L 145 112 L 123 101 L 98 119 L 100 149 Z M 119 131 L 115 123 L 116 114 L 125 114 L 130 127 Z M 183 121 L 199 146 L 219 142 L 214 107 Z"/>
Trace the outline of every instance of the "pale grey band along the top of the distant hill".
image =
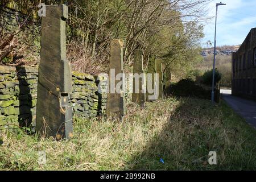
<path id="1" fill-rule="evenodd" d="M 217 55 L 231 55 L 232 51 L 237 51 L 240 48 L 241 45 L 237 46 L 218 46 L 216 47 L 216 53 Z M 201 52 L 201 55 L 206 57 L 208 55 L 213 55 L 214 48 L 204 48 Z"/>

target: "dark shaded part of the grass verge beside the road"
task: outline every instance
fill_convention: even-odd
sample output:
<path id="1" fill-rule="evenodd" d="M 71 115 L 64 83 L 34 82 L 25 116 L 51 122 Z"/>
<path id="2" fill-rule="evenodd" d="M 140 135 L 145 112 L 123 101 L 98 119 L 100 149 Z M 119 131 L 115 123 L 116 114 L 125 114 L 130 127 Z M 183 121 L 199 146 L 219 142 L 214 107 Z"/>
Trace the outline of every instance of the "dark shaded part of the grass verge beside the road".
<path id="1" fill-rule="evenodd" d="M 134 155 L 124 169 L 255 169 L 256 156 L 247 154 L 256 150 L 256 133 L 251 134 L 241 118 L 223 103 L 212 107 L 210 101 L 181 100 L 163 130 L 152 135 L 143 152 Z M 210 151 L 217 152 L 217 165 L 208 163 Z"/>

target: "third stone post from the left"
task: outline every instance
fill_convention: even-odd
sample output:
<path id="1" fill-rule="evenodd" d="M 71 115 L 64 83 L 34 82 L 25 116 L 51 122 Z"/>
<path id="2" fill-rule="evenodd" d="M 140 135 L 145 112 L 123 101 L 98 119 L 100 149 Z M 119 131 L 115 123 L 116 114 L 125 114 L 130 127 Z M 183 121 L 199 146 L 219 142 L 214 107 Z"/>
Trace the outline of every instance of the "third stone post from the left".
<path id="1" fill-rule="evenodd" d="M 146 77 L 143 69 L 143 50 L 137 50 L 134 54 L 133 64 L 133 98 L 132 101 L 140 106 L 144 106 L 146 101 L 146 92 L 144 86 L 146 85 Z"/>

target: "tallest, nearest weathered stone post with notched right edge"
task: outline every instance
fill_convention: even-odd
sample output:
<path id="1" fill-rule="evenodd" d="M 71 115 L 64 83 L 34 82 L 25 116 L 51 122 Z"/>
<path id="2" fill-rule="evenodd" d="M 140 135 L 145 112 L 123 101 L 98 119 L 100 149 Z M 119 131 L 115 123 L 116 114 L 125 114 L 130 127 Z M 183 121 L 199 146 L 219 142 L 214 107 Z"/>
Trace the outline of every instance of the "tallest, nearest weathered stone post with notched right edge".
<path id="1" fill-rule="evenodd" d="M 66 57 L 68 7 L 46 6 L 42 18 L 36 131 L 57 140 L 72 137 L 71 67 Z"/>

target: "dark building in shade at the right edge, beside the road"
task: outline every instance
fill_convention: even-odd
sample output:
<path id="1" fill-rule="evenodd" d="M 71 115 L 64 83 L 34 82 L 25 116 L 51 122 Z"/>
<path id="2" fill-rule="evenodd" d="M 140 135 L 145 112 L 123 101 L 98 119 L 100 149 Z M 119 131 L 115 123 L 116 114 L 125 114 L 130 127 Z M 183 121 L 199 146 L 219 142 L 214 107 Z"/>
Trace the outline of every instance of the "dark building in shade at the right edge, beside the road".
<path id="1" fill-rule="evenodd" d="M 232 94 L 256 98 L 256 28 L 232 53 Z"/>

